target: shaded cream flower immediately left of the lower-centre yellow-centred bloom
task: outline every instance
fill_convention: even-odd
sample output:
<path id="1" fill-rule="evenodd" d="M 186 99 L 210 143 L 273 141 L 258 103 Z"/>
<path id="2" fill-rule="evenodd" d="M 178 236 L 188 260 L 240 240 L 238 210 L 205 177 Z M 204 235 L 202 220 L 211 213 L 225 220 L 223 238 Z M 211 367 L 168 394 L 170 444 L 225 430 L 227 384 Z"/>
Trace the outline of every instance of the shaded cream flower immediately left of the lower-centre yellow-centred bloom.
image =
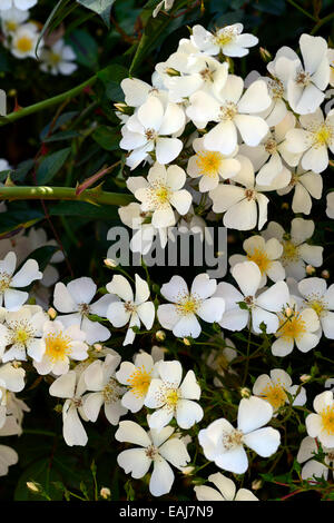
<path id="1" fill-rule="evenodd" d="M 85 371 L 86 387 L 92 393 L 84 396 L 84 412 L 91 422 L 97 421 L 102 405 L 111 425 L 118 425 L 119 417 L 128 412 L 121 405 L 121 396 L 126 388 L 119 386 L 115 375 L 119 362 L 119 355 L 107 355 L 105 362 L 97 359 Z"/>

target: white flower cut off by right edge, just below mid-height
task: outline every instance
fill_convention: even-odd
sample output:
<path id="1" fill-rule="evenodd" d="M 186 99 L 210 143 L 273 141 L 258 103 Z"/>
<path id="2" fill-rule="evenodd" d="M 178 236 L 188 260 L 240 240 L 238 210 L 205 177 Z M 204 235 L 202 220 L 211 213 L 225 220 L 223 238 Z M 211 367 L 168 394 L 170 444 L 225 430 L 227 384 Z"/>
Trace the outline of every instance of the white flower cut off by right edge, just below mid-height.
<path id="1" fill-rule="evenodd" d="M 304 300 L 302 306 L 313 308 L 326 338 L 334 339 L 334 284 L 327 288 L 323 278 L 306 278 L 298 283 Z"/>

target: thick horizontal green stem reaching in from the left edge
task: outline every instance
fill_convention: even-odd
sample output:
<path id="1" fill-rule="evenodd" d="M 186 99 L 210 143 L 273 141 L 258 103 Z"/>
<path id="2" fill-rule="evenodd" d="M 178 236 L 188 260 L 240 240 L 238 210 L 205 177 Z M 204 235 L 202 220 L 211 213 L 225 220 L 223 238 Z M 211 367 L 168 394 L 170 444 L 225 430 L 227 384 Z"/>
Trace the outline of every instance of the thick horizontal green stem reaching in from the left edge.
<path id="1" fill-rule="evenodd" d="M 97 187 L 84 190 L 76 195 L 76 189 L 70 187 L 0 187 L 1 200 L 72 200 L 87 201 L 89 204 L 127 205 L 134 201 L 131 195 L 106 193 Z"/>

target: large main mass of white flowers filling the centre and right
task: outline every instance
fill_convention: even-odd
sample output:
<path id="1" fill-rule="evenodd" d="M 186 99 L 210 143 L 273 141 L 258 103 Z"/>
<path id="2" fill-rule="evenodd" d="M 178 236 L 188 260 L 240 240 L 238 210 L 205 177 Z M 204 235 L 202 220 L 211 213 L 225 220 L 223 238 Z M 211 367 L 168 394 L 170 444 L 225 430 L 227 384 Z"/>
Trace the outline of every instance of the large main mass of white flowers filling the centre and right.
<path id="1" fill-rule="evenodd" d="M 165 8 L 171 3 L 165 1 Z M 20 26 L 12 33 L 12 46 L 20 39 L 18 31 L 27 30 L 27 24 Z M 310 272 L 310 266 L 315 272 L 323 264 L 323 247 L 310 243 L 314 221 L 295 217 L 288 230 L 267 223 L 272 203 L 266 196 L 281 197 L 294 189 L 292 210 L 305 215 L 312 198 L 322 197 L 321 172 L 328 165 L 328 149 L 334 150 L 334 110 L 324 116 L 321 108 L 331 78 L 331 50 L 323 38 L 302 34 L 302 60 L 284 47 L 267 65 L 267 76 L 254 72 L 244 81 L 230 72 L 232 58 L 244 57 L 256 43 L 257 38 L 243 33 L 240 23 L 215 33 L 195 26 L 190 38 L 180 40 L 177 51 L 156 66 L 151 86 L 136 78 L 121 82 L 120 147 L 128 151 L 126 165 L 131 170 L 143 162 L 149 166 L 147 177 L 127 179 L 137 201 L 119 209 L 121 221 L 136 231 L 132 250 L 147 251 L 155 235 L 166 245 L 168 227 L 185 221 L 205 227 L 209 216 L 230 229 L 258 233 L 246 237 L 244 253 L 229 257 L 224 280 L 202 273 L 187 283 L 174 275 L 159 282 L 156 290 L 139 274 L 134 278 L 115 274 L 96 298 L 95 282 L 80 277 L 67 285 L 57 283 L 50 304 L 27 304 L 29 294 L 18 290 L 43 276 L 33 259 L 16 272 L 13 250 L 27 237 L 19 237 L 14 249 L 6 240 L 0 262 L 0 425 L 14 416 L 20 426 L 24 406 L 16 403 L 14 408 L 12 403 L 24 386 L 20 364 L 30 359 L 38 374 L 53 379 L 50 395 L 65 401 L 66 443 L 86 445 L 84 422 L 97 422 L 104 407 L 117 427 L 115 438 L 136 445 L 118 455 L 119 466 L 141 478 L 153 464 L 154 496 L 170 492 L 171 467 L 186 473 L 193 466 L 190 437 L 209 462 L 234 474 L 248 470 L 250 456 L 273 456 L 281 444 L 275 423 L 307 399 L 306 385 L 293 384 L 284 357 L 295 346 L 308 353 L 322 336 L 334 339 L 334 284 L 327 286 L 325 278 Z M 41 245 L 41 238 L 35 245 Z M 27 247 L 21 251 L 26 259 Z M 248 348 L 250 336 L 264 338 L 271 357 L 281 358 L 277 365 L 285 368 L 269 366 L 267 374 L 255 377 L 253 391 L 242 394 L 238 405 L 229 403 L 207 424 L 200 376 L 193 369 L 185 371 L 178 358 L 165 359 L 150 346 L 134 349 L 132 361 L 122 361 L 119 353 L 144 328 L 144 334 L 156 333 L 157 339 L 166 329 L 177 342 L 191 345 L 210 326 L 222 348 L 204 354 L 203 362 L 214 371 L 216 387 L 225 387 L 226 376 L 237 375 L 229 367 L 239 351 L 224 339 L 225 329 L 232 336 L 248 330 Z M 333 392 L 318 394 L 314 411 L 306 417 L 308 435 L 296 456 L 301 463 L 311 460 L 303 467 L 305 478 L 327 474 L 325 465 L 321 468 L 312 460 L 317 443 L 327 462 L 334 460 Z M 120 420 L 139 412 L 141 420 L 145 414 L 145 427 Z M 195 426 L 196 431 L 185 432 Z M 16 456 L 6 452 L 7 463 L 13 463 Z M 198 500 L 256 500 L 245 489 L 236 493 L 234 482 L 219 472 L 208 481 L 218 491 L 197 485 Z"/>

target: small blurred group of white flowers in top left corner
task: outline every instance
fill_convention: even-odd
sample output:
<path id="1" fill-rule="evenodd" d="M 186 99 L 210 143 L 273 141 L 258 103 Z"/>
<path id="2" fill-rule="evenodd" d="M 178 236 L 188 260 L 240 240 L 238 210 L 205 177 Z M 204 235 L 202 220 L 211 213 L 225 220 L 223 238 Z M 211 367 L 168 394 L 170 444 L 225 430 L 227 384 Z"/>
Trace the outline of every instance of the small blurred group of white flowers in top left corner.
<path id="1" fill-rule="evenodd" d="M 29 9 L 37 0 L 1 0 L 0 22 L 3 45 L 19 59 L 36 59 L 41 24 L 30 19 Z M 41 39 L 39 43 L 40 69 L 51 75 L 71 75 L 76 69 L 76 53 L 62 38 L 57 41 Z"/>

